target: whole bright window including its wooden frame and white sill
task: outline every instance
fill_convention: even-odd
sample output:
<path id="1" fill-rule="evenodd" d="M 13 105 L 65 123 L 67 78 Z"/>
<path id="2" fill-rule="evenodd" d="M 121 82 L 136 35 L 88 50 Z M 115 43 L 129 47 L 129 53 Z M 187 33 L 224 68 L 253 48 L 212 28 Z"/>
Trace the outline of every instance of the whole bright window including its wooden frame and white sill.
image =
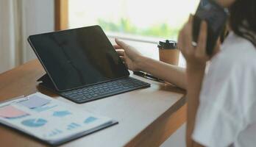
<path id="1" fill-rule="evenodd" d="M 188 15 L 200 0 L 55 0 L 56 30 L 100 25 L 110 41 L 126 39 L 143 54 L 158 60 L 157 42 L 177 40 Z M 185 60 L 179 58 L 179 66 Z"/>

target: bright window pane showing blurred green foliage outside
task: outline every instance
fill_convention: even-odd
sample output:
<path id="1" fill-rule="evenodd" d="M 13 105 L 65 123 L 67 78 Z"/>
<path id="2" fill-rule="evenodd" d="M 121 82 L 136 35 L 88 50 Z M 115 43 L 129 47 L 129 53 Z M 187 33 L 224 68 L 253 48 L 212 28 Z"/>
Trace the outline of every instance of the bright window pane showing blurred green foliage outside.
<path id="1" fill-rule="evenodd" d="M 177 39 L 199 0 L 70 0 L 68 27 L 99 24 L 105 32 Z"/>

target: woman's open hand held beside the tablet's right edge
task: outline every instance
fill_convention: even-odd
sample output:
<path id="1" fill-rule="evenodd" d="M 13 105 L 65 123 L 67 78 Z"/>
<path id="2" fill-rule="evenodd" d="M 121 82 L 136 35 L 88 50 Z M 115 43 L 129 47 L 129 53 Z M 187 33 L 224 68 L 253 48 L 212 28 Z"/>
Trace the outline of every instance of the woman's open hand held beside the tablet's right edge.
<path id="1" fill-rule="evenodd" d="M 115 39 L 115 43 L 117 43 L 117 45 L 115 45 L 114 48 L 121 57 L 121 60 L 123 60 L 124 64 L 127 65 L 127 68 L 131 71 L 141 71 L 140 63 L 143 59 L 141 53 L 121 40 Z"/>

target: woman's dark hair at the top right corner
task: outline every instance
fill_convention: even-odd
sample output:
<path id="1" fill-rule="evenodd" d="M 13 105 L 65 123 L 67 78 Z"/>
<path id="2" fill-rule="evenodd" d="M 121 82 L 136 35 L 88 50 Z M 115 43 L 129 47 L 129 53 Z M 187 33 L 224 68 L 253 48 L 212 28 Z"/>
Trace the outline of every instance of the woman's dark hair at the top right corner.
<path id="1" fill-rule="evenodd" d="M 229 10 L 232 31 L 256 47 L 256 0 L 236 0 Z"/>

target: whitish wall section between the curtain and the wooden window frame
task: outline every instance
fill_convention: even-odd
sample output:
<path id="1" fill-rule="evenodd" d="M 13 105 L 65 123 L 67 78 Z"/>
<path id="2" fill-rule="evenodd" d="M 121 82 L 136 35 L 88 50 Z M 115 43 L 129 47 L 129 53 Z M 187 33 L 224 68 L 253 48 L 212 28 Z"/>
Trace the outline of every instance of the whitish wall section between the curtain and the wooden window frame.
<path id="1" fill-rule="evenodd" d="M 24 59 L 35 59 L 35 54 L 27 43 L 29 35 L 54 31 L 54 0 L 24 0 Z"/>

